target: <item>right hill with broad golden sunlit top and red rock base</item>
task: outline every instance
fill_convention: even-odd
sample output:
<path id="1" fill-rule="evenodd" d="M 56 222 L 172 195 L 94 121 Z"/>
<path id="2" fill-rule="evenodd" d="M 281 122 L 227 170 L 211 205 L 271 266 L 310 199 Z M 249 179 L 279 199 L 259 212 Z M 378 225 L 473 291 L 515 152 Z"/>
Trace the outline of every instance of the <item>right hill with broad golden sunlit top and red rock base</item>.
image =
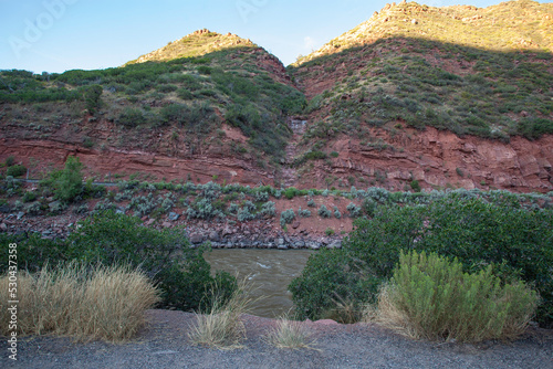
<path id="1" fill-rule="evenodd" d="M 388 4 L 300 59 L 298 180 L 551 190 L 551 20 L 552 4 L 532 1 Z"/>

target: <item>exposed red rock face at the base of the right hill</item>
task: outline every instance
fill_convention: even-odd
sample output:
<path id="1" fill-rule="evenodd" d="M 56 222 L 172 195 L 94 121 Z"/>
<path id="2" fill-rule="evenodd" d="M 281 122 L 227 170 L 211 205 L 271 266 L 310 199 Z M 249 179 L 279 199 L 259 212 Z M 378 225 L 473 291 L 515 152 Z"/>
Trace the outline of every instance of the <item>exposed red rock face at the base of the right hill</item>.
<path id="1" fill-rule="evenodd" d="M 553 190 L 551 135 L 535 141 L 512 137 L 509 144 L 473 136 L 460 138 L 435 128 L 405 130 L 394 137 L 382 130 L 372 135 L 380 139 L 379 148 L 362 145 L 355 137 L 332 144 L 330 149 L 340 156 L 332 159 L 332 166 L 317 162 L 303 179 L 305 183 L 314 181 L 324 187 L 325 179 L 334 176 L 346 184 L 348 178 L 364 178 L 369 184 L 395 190 L 403 190 L 413 180 L 428 189 Z M 359 184 L 356 182 L 365 187 Z"/>

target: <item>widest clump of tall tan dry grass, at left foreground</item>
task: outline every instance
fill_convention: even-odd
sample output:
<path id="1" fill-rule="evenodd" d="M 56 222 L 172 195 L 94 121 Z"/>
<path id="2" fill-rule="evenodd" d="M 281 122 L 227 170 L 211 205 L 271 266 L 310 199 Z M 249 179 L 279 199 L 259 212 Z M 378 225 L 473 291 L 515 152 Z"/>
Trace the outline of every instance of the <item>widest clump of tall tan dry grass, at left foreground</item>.
<path id="1" fill-rule="evenodd" d="M 0 278 L 0 319 L 9 321 L 8 276 Z M 127 266 L 93 268 L 69 264 L 18 275 L 18 333 L 53 334 L 77 340 L 122 341 L 144 325 L 144 312 L 159 297 L 153 283 Z M 1 334 L 7 335 L 2 325 Z"/>

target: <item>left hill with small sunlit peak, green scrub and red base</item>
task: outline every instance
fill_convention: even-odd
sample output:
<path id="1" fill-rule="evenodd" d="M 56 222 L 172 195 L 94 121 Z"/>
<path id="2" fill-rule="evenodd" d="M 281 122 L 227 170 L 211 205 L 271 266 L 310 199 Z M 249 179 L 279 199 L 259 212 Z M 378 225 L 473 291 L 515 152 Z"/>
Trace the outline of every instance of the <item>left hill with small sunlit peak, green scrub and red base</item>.
<path id="1" fill-rule="evenodd" d="M 97 179 L 272 183 L 291 136 L 284 122 L 305 105 L 275 56 L 207 30 L 122 67 L 1 71 L 0 81 L 0 156 L 46 168 L 77 154 Z"/>

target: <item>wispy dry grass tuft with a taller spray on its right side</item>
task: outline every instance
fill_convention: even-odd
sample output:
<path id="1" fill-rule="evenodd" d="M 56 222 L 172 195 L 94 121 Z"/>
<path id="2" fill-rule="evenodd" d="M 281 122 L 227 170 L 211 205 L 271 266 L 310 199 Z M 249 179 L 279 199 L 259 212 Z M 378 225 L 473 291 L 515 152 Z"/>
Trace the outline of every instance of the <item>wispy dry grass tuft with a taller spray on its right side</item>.
<path id="1" fill-rule="evenodd" d="M 241 348 L 241 342 L 246 339 L 246 327 L 240 317 L 253 302 L 249 297 L 251 285 L 243 278 L 226 304 L 219 296 L 213 296 L 210 312 L 196 314 L 196 325 L 188 333 L 190 341 L 226 350 Z"/>

